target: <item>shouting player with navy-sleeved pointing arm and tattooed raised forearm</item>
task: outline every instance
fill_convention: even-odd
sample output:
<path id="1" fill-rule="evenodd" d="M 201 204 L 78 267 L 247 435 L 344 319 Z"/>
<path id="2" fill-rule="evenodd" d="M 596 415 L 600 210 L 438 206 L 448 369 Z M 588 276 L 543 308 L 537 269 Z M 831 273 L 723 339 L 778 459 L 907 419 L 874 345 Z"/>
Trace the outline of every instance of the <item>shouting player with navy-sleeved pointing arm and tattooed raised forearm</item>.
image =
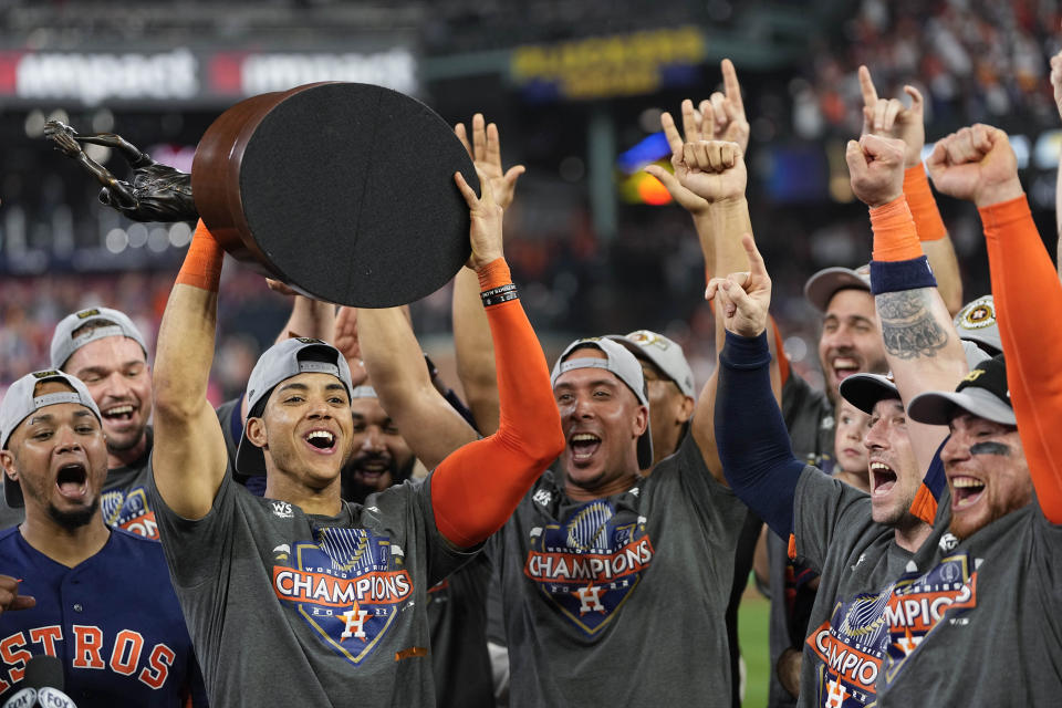
<path id="1" fill-rule="evenodd" d="M 902 399 L 929 382 L 958 379 L 966 367 L 903 196 L 903 154 L 902 142 L 873 135 L 848 148 L 853 190 L 872 207 L 873 285 L 897 382 L 858 374 L 841 384 L 847 400 L 872 414 L 865 438 L 870 497 L 794 458 L 777 414 L 768 428 L 759 427 L 769 395 L 762 331 L 770 281 L 751 239 L 750 256 L 758 261 L 752 275 L 709 288 L 728 308 L 716 419 L 728 478 L 777 533 L 790 537 L 791 555 L 821 575 L 804 645 L 801 705 L 875 700 L 887 649 L 882 612 L 889 581 L 930 538 L 937 511 L 931 492 L 939 493 L 943 481 L 935 451 L 945 431 L 908 424 Z M 908 271 L 919 277 L 910 282 L 899 277 Z M 919 485 L 922 470 L 928 471 Z"/>

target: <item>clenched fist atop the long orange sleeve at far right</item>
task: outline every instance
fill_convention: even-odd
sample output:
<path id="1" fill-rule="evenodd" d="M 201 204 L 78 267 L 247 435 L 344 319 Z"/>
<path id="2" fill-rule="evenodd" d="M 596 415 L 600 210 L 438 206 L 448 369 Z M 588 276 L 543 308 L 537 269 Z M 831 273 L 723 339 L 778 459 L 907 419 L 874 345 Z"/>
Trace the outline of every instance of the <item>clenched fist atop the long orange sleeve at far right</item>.
<path id="1" fill-rule="evenodd" d="M 978 207 L 1023 194 L 1010 140 L 990 125 L 977 123 L 937 140 L 926 166 L 938 190 Z"/>

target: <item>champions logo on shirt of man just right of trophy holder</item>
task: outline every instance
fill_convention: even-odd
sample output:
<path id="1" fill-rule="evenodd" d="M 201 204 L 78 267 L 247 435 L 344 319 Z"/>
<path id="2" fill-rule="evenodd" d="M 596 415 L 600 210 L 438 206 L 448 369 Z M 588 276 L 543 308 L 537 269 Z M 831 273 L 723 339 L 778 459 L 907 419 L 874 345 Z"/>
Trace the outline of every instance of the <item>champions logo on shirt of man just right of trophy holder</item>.
<path id="1" fill-rule="evenodd" d="M 563 617 L 593 636 L 608 624 L 653 561 L 645 519 L 620 523 L 598 499 L 532 532 L 523 572 Z"/>

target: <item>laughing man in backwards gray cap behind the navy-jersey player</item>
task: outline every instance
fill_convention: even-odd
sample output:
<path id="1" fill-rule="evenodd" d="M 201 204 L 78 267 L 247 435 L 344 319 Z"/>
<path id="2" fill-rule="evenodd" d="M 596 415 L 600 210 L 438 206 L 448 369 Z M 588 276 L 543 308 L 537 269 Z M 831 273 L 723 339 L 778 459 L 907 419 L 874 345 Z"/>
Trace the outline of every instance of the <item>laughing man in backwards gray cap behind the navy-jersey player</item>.
<path id="1" fill-rule="evenodd" d="M 133 321 L 110 308 L 63 317 L 52 335 L 51 365 L 85 383 L 103 415 L 107 479 L 100 504 L 108 525 L 158 539 L 147 494 L 153 431 L 152 372 L 147 344 Z M 21 509 L 0 508 L 0 527 L 22 520 Z"/>

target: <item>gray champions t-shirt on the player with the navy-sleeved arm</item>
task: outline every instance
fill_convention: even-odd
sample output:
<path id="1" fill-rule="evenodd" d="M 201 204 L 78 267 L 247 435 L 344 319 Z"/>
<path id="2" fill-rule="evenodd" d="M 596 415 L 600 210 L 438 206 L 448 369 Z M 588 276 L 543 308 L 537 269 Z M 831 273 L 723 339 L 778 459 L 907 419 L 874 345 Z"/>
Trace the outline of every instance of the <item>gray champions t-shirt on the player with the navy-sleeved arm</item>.
<path id="1" fill-rule="evenodd" d="M 913 555 L 891 527 L 874 523 L 866 492 L 814 467 L 800 476 L 793 511 L 796 560 L 820 574 L 798 705 L 873 704 L 888 634 L 885 601 Z"/>

